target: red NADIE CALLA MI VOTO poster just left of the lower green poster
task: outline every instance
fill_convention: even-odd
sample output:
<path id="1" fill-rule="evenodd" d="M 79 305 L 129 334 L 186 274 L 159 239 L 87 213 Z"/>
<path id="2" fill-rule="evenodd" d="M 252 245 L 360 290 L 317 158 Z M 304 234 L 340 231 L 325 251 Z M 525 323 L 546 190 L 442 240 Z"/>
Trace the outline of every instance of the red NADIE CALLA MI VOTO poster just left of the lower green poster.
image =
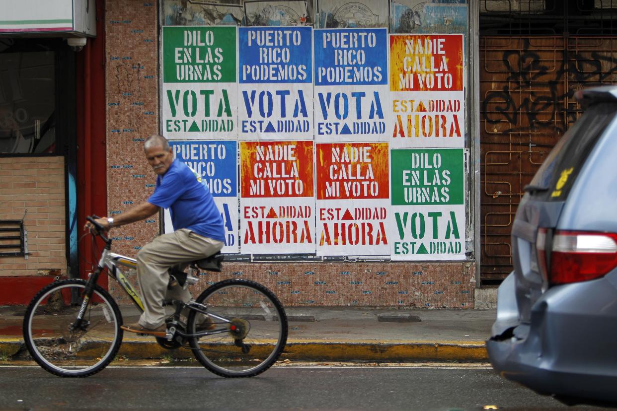
<path id="1" fill-rule="evenodd" d="M 318 143 L 316 152 L 317 255 L 390 254 L 387 143 Z"/>

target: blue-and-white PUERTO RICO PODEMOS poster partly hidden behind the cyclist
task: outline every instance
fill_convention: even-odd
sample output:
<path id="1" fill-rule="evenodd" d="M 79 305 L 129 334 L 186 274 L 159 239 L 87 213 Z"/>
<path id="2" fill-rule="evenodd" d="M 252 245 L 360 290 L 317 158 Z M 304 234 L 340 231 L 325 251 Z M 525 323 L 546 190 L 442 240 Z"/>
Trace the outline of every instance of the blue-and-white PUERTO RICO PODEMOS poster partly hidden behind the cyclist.
<path id="1" fill-rule="evenodd" d="M 225 226 L 222 253 L 238 253 L 238 143 L 235 141 L 171 141 L 173 157 L 189 166 L 214 197 Z M 165 210 L 165 232 L 172 232 Z"/>

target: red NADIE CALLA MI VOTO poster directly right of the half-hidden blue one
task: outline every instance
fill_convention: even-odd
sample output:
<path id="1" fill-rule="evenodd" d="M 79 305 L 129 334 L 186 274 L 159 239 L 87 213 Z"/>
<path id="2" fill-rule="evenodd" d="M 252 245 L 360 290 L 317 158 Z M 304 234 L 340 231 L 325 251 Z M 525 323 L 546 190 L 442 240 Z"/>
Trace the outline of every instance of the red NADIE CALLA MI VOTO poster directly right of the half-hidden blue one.
<path id="1" fill-rule="evenodd" d="M 240 142 L 240 250 L 315 253 L 312 141 Z"/>

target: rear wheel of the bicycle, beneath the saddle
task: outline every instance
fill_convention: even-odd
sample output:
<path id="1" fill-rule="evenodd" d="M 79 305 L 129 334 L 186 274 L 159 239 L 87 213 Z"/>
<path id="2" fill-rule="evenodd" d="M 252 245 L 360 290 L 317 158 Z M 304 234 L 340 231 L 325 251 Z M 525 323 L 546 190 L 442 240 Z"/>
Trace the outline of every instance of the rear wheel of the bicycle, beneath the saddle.
<path id="1" fill-rule="evenodd" d="M 259 283 L 224 280 L 207 288 L 197 303 L 214 323 L 209 335 L 191 338 L 193 354 L 211 372 L 226 376 L 254 376 L 276 362 L 287 343 L 287 316 L 278 298 Z M 191 310 L 190 333 L 198 328 L 201 315 Z"/>

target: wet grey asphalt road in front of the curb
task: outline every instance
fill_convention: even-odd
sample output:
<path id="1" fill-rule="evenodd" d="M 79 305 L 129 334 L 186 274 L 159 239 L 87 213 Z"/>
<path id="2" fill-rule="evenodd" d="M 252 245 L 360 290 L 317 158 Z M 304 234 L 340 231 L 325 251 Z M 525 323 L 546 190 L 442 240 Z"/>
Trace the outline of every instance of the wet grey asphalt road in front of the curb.
<path id="1" fill-rule="evenodd" d="M 0 409 L 600 410 L 568 407 L 502 380 L 486 365 L 273 367 L 220 378 L 201 367 L 108 367 L 60 378 L 38 367 L 0 367 Z"/>

